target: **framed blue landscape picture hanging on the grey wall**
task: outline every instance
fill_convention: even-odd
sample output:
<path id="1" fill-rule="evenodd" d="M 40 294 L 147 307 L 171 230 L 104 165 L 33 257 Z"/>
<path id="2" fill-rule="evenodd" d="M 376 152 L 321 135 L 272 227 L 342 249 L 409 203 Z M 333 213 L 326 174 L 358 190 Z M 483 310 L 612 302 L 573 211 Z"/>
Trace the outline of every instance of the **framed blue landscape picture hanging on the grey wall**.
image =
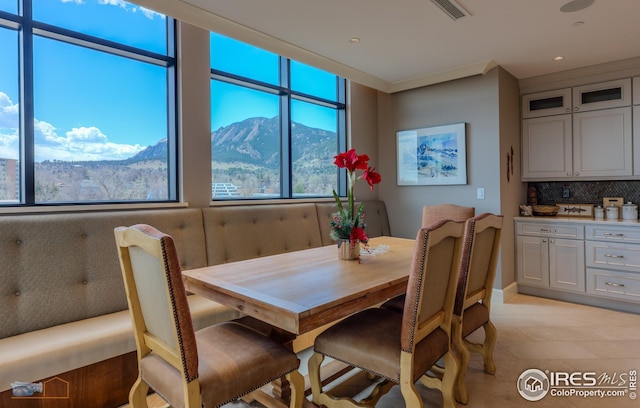
<path id="1" fill-rule="evenodd" d="M 467 124 L 396 133 L 399 186 L 467 184 Z"/>

